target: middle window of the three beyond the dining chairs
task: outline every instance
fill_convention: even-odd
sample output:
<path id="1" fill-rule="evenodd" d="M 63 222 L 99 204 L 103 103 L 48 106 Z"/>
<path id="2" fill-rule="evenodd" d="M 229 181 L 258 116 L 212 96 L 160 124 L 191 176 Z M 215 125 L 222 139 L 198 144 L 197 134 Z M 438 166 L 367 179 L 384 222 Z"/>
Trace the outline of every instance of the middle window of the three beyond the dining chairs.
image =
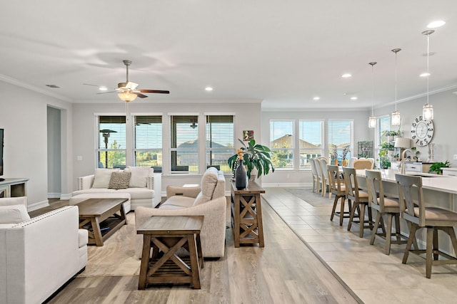
<path id="1" fill-rule="evenodd" d="M 300 120 L 299 123 L 300 169 L 311 169 L 309 159 L 323 155 L 323 122 L 321 120 Z"/>

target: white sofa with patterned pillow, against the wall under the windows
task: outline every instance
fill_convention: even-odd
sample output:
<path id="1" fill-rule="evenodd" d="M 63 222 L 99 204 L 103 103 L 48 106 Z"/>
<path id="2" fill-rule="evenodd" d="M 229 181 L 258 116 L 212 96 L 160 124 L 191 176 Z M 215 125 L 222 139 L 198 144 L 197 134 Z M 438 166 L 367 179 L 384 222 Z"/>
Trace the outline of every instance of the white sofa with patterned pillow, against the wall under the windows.
<path id="1" fill-rule="evenodd" d="M 128 187 L 121 189 L 109 188 L 113 172 L 131 172 Z M 161 201 L 161 187 L 161 173 L 154 173 L 152 168 L 96 169 L 95 174 L 78 177 L 78 189 L 72 192 L 71 196 L 86 194 L 85 198 L 89 198 L 91 196 L 87 194 L 96 194 L 93 197 L 99 198 L 99 194 L 109 193 L 109 197 L 113 197 L 113 194 L 128 193 L 131 196 L 130 207 L 135 210 L 138 206 L 157 206 Z"/>

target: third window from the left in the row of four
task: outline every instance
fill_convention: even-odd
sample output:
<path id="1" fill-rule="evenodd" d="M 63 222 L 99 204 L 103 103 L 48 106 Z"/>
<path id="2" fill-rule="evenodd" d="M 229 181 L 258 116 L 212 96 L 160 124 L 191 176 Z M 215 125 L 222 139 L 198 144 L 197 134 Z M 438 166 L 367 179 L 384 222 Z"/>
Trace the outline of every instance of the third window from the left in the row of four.
<path id="1" fill-rule="evenodd" d="M 199 172 L 199 116 L 173 115 L 170 117 L 171 173 Z"/>

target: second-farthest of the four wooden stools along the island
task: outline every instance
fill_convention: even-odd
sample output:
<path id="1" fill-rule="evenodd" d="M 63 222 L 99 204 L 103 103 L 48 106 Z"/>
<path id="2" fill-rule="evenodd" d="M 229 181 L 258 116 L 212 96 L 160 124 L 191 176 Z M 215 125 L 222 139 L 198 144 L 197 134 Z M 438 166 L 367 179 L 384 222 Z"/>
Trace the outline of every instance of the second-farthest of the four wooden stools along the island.
<path id="1" fill-rule="evenodd" d="M 363 229 L 373 229 L 373 216 L 371 216 L 371 208 L 368 206 L 368 192 L 358 189 L 356 169 L 343 167 L 344 182 L 346 183 L 346 198 L 352 201 L 352 210 L 349 215 L 348 231 L 351 231 L 352 223 L 358 223 L 358 236 L 363 238 Z M 368 211 L 368 223 L 365 224 L 365 207 Z M 356 209 L 358 215 L 355 215 Z M 354 221 L 354 217 L 358 221 Z"/>

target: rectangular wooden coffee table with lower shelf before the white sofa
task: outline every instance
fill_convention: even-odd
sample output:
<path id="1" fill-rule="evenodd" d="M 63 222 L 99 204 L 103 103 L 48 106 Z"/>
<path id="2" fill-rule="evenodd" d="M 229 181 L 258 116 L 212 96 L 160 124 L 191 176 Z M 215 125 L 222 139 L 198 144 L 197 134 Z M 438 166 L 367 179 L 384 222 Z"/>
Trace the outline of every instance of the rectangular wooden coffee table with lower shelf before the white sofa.
<path id="1" fill-rule="evenodd" d="M 86 199 L 77 204 L 79 228 L 89 227 L 89 244 L 103 246 L 104 240 L 127 224 L 124 203 L 129 199 Z M 116 212 L 120 212 L 116 214 Z M 103 222 L 104 228 L 100 228 Z"/>

